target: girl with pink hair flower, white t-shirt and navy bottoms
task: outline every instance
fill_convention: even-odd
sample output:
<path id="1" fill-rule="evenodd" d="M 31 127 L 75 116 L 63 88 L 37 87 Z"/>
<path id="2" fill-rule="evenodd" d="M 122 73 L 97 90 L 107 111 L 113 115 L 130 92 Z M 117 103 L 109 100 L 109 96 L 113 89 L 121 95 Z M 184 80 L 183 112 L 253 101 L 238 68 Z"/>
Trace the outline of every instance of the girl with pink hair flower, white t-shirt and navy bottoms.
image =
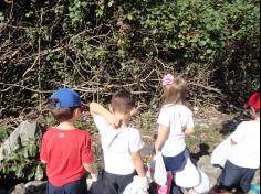
<path id="1" fill-rule="evenodd" d="M 176 173 L 182 171 L 187 163 L 185 136 L 194 133 L 194 119 L 186 106 L 186 80 L 168 74 L 163 85 L 165 101 L 157 121 L 159 131 L 155 150 L 156 153 L 161 152 L 166 170 Z M 189 192 L 194 193 L 194 190 Z"/>

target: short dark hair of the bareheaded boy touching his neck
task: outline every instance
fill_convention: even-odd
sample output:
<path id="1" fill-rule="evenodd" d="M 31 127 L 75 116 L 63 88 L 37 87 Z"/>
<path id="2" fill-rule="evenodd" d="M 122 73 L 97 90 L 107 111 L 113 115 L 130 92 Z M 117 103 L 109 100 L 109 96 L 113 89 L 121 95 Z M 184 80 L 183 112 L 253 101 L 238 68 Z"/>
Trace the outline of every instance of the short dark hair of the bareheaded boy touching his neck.
<path id="1" fill-rule="evenodd" d="M 130 91 L 119 89 L 113 95 L 111 106 L 114 111 L 127 115 L 135 107 L 135 100 Z"/>

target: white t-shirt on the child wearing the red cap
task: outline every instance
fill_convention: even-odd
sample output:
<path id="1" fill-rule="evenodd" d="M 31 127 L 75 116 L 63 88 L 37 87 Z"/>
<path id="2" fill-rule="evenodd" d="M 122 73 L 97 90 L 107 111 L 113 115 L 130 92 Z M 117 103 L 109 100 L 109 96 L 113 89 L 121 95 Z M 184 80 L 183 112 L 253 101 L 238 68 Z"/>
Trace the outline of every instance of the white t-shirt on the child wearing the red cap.
<path id="1" fill-rule="evenodd" d="M 240 168 L 259 169 L 260 122 L 253 120 L 241 122 L 231 134 L 231 139 L 237 144 L 232 146 L 228 160 Z"/>

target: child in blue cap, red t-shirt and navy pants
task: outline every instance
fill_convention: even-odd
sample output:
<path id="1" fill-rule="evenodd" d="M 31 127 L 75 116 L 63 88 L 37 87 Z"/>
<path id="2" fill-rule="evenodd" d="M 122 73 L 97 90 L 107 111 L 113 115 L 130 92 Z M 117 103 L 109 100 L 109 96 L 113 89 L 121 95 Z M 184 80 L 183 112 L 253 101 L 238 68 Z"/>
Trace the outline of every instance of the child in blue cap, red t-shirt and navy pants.
<path id="1" fill-rule="evenodd" d="M 86 194 L 86 171 L 93 177 L 97 173 L 90 133 L 74 126 L 84 110 L 80 96 L 67 88 L 59 89 L 50 104 L 51 114 L 60 123 L 42 139 L 40 158 L 46 164 L 48 194 Z"/>

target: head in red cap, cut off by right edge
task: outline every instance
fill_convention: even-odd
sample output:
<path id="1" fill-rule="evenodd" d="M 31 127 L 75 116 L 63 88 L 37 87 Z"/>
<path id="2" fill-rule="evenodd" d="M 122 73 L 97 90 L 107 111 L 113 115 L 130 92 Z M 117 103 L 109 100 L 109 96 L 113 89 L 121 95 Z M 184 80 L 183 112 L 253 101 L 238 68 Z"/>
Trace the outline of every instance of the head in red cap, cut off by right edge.
<path id="1" fill-rule="evenodd" d="M 254 93 L 250 98 L 246 108 L 250 108 L 250 115 L 253 119 L 260 117 L 260 91 Z"/>

